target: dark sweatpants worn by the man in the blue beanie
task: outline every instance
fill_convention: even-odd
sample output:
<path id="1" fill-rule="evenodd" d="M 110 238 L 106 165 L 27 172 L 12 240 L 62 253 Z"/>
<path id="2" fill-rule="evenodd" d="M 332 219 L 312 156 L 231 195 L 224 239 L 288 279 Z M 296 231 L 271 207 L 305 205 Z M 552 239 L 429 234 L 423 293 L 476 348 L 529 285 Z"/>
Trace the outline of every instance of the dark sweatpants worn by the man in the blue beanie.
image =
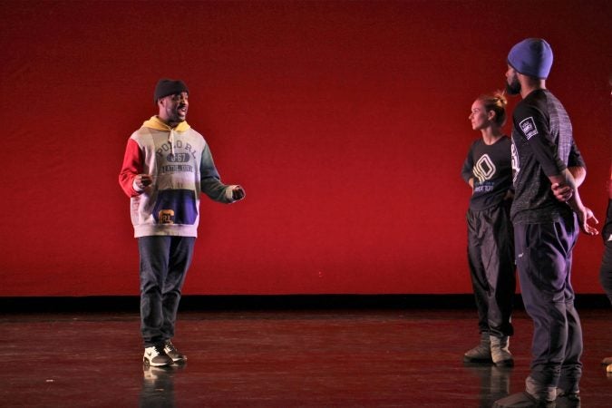
<path id="1" fill-rule="evenodd" d="M 578 220 L 515 224 L 514 236 L 520 290 L 534 326 L 529 376 L 538 389 L 529 392 L 578 392 L 582 328 L 570 280 Z"/>

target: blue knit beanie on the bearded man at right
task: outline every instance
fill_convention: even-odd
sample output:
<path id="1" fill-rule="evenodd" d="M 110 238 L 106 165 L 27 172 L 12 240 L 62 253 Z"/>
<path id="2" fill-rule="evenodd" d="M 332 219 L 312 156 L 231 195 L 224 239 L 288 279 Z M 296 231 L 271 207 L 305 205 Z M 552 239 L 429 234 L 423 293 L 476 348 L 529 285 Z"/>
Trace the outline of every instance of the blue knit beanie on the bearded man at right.
<path id="1" fill-rule="evenodd" d="M 512 47 L 508 63 L 519 73 L 546 79 L 552 66 L 552 48 L 541 38 L 528 38 Z"/>

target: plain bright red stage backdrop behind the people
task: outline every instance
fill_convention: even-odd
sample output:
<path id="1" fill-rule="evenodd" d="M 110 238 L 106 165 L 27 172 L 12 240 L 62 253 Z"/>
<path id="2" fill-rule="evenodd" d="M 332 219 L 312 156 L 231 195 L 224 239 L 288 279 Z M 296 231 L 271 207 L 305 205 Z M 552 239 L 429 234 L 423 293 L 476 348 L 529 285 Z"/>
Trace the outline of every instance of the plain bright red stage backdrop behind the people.
<path id="1" fill-rule="evenodd" d="M 529 36 L 552 44 L 603 222 L 607 0 L 0 5 L 0 296 L 138 294 L 117 176 L 161 77 L 189 85 L 189 123 L 247 190 L 203 199 L 186 294 L 470 293 L 468 114 Z M 579 239 L 578 293 L 601 292 L 601 253 Z"/>

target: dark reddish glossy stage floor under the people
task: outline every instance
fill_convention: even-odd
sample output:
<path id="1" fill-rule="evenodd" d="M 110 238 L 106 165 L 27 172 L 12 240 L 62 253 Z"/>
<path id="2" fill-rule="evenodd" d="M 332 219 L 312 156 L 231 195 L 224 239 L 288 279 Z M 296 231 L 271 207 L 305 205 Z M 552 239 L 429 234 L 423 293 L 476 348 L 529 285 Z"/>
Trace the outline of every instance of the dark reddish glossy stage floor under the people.
<path id="1" fill-rule="evenodd" d="M 612 406 L 612 309 L 580 310 L 582 407 Z M 516 366 L 469 366 L 467 309 L 187 311 L 184 366 L 143 369 L 137 313 L 0 314 L 0 406 L 490 407 L 523 390 L 531 321 L 514 318 Z"/>

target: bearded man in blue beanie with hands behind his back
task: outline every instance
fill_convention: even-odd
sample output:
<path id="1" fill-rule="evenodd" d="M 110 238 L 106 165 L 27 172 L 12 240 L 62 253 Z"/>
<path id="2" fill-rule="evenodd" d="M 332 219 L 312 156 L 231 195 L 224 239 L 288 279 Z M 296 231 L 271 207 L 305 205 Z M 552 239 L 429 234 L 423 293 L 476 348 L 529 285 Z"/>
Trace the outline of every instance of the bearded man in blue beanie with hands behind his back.
<path id="1" fill-rule="evenodd" d="M 507 91 L 522 98 L 512 115 L 510 218 L 520 289 L 534 333 L 525 392 L 500 399 L 496 408 L 580 405 L 582 329 L 570 268 L 578 228 L 597 235 L 588 224 L 597 219 L 582 203 L 579 183 L 568 169 L 577 149 L 568 113 L 546 89 L 552 60 L 550 45 L 539 38 L 521 41 L 508 54 Z"/>

